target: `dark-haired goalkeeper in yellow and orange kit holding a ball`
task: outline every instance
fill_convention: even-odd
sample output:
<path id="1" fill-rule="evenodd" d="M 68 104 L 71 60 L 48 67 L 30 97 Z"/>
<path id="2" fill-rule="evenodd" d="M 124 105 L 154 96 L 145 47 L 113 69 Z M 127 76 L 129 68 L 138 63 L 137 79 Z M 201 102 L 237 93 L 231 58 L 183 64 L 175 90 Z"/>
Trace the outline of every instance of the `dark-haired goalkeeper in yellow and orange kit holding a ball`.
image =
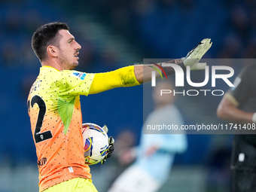
<path id="1" fill-rule="evenodd" d="M 210 39 L 203 39 L 185 58 L 170 62 L 182 69 L 186 66 L 192 70 L 205 69 L 206 63 L 198 62 L 211 46 Z M 81 45 L 66 23 L 39 27 L 32 36 L 32 48 L 41 62 L 27 102 L 38 157 L 39 190 L 97 191 L 90 168 L 84 164 L 79 96 L 151 81 L 155 69 L 145 65 L 127 66 L 96 74 L 72 70 L 78 66 Z M 172 67 L 162 66 L 162 70 L 166 75 L 175 72 Z M 110 142 L 112 145 L 113 141 Z M 108 157 L 110 154 L 108 151 Z"/>

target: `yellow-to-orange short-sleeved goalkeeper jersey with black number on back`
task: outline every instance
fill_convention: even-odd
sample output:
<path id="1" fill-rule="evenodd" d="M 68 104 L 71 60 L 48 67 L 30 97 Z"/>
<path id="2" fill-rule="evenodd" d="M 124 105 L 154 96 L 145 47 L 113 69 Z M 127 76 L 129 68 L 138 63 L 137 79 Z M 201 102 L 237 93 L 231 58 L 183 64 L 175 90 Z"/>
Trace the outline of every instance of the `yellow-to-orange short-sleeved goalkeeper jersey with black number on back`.
<path id="1" fill-rule="evenodd" d="M 88 95 L 93 78 L 94 74 L 43 66 L 32 85 L 28 111 L 40 191 L 71 178 L 91 178 L 84 163 L 79 95 Z"/>

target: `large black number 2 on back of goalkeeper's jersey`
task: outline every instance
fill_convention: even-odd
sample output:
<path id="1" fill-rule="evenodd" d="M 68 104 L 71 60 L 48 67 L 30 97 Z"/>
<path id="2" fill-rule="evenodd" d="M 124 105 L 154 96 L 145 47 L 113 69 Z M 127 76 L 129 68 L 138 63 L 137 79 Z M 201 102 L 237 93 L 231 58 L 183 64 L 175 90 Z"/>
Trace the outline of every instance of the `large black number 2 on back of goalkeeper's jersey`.
<path id="1" fill-rule="evenodd" d="M 28 108 L 30 108 L 30 105 L 33 108 L 35 103 L 37 103 L 39 107 L 38 120 L 35 125 L 35 133 L 34 133 L 35 143 L 38 143 L 38 142 L 43 142 L 44 140 L 52 138 L 53 135 L 51 134 L 50 130 L 40 133 L 41 126 L 44 120 L 44 115 L 46 112 L 46 105 L 44 100 L 41 99 L 40 96 L 33 96 L 31 99 L 31 104 L 30 104 L 30 100 L 28 101 Z"/>

